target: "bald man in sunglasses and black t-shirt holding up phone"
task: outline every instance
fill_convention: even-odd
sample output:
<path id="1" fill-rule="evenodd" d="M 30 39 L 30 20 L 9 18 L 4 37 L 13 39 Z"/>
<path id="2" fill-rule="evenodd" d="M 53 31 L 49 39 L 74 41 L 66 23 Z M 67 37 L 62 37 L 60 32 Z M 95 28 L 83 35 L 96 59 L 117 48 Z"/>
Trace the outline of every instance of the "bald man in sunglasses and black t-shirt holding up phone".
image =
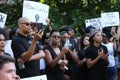
<path id="1" fill-rule="evenodd" d="M 31 21 L 26 17 L 18 20 L 18 27 L 19 32 L 11 44 L 15 57 L 16 73 L 21 78 L 37 76 L 39 75 L 39 59 L 45 57 L 37 43 L 43 32 L 36 31 L 33 39 L 28 37 L 31 31 Z"/>

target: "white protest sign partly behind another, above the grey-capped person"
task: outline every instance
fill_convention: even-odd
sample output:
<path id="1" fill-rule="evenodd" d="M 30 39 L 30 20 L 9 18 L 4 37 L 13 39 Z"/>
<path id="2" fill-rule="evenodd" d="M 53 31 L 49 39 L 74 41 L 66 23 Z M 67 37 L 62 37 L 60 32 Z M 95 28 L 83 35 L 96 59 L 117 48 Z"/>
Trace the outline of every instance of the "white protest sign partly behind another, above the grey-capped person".
<path id="1" fill-rule="evenodd" d="M 101 18 L 87 19 L 85 20 L 85 24 L 86 24 L 86 28 L 90 25 L 98 29 L 102 27 Z"/>

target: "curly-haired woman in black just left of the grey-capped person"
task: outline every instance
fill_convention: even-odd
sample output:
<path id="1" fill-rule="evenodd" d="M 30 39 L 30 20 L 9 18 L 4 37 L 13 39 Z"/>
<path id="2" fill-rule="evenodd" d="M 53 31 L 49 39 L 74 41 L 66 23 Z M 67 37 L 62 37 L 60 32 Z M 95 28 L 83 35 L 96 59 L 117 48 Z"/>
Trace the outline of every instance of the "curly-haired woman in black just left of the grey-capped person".
<path id="1" fill-rule="evenodd" d="M 86 65 L 86 56 L 85 50 L 89 46 L 89 35 L 84 35 L 81 37 L 80 40 L 80 47 L 81 50 L 78 52 L 79 59 L 81 60 L 78 63 L 79 66 L 79 80 L 88 80 L 88 69 Z"/>

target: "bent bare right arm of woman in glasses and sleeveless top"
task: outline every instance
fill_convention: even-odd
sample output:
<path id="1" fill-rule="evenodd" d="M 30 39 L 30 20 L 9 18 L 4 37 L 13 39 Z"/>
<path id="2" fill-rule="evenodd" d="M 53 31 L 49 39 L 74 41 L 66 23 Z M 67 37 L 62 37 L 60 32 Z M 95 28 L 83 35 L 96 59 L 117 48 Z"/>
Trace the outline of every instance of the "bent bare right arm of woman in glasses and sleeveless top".
<path id="1" fill-rule="evenodd" d="M 62 48 L 62 51 L 56 56 L 56 58 L 52 59 L 50 51 L 45 49 L 44 50 L 44 52 L 46 54 L 45 60 L 46 60 L 47 64 L 52 68 L 55 67 L 58 64 L 59 60 L 64 56 L 64 54 L 67 53 L 67 51 L 68 51 L 68 49 Z"/>

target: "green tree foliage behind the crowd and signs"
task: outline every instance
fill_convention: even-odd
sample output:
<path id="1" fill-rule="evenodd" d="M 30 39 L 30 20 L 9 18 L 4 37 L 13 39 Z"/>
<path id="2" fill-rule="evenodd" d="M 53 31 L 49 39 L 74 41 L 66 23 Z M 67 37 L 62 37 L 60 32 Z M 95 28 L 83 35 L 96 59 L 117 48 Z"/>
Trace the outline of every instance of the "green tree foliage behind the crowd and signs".
<path id="1" fill-rule="evenodd" d="M 8 14 L 6 25 L 17 26 L 17 20 L 22 16 L 23 0 L 14 0 L 15 5 L 0 5 L 0 11 Z M 70 25 L 76 33 L 84 34 L 85 20 L 100 17 L 102 12 L 119 11 L 119 0 L 31 0 L 50 6 L 49 18 L 52 27 L 59 29 Z"/>

